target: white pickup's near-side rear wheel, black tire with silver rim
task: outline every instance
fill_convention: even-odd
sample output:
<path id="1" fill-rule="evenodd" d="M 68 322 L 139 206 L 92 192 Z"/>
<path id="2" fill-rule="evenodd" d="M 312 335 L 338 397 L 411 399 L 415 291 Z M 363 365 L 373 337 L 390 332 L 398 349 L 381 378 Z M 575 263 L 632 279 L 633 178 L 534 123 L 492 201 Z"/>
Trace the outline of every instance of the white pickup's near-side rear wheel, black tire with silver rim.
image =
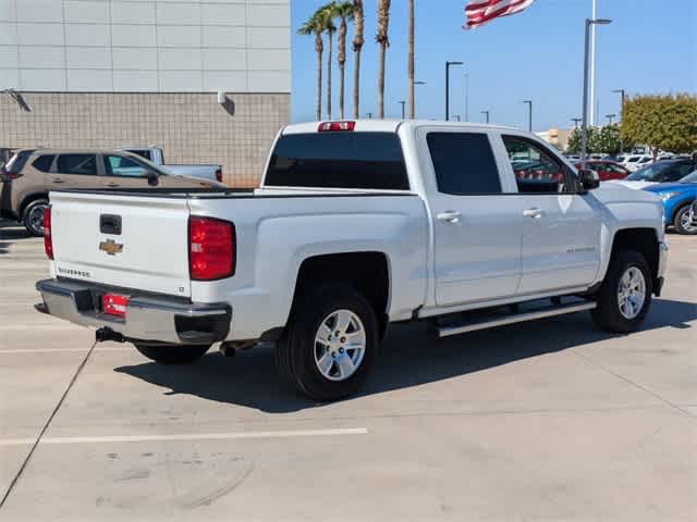
<path id="1" fill-rule="evenodd" d="M 310 399 L 339 400 L 365 382 L 379 343 L 368 300 L 346 284 L 321 284 L 295 303 L 277 345 L 277 364 L 281 376 Z"/>

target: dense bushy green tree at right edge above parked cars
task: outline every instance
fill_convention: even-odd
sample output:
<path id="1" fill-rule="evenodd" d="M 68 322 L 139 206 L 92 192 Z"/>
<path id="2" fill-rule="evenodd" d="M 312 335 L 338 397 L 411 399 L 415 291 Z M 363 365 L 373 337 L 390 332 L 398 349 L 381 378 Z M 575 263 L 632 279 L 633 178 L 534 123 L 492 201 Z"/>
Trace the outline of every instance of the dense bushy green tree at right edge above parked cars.
<path id="1" fill-rule="evenodd" d="M 625 141 L 658 150 L 692 152 L 697 149 L 697 97 L 678 94 L 635 96 L 622 111 L 622 137 Z"/>

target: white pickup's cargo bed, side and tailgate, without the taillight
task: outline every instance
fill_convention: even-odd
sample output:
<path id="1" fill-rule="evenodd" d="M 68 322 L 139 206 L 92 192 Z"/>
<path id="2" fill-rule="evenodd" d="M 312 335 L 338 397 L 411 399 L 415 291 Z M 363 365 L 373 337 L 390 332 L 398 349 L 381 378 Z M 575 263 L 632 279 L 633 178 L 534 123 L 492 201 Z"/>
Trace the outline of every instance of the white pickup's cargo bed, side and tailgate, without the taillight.
<path id="1" fill-rule="evenodd" d="M 303 262 L 314 256 L 386 252 L 400 285 L 393 318 L 424 302 L 428 220 L 409 192 L 125 189 L 53 191 L 53 275 L 106 286 L 232 306 L 235 338 L 285 323 Z M 189 221 L 234 225 L 234 275 L 191 277 Z M 110 233 L 103 219 L 117 219 Z M 398 261 L 399 260 L 399 261 Z"/>

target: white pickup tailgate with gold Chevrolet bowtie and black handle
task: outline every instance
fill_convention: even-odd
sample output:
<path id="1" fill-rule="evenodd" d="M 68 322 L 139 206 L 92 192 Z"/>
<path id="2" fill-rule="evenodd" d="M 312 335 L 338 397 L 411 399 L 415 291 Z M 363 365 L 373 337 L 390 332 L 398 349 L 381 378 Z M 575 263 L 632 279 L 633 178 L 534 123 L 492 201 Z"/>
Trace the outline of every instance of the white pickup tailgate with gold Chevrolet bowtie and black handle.
<path id="1" fill-rule="evenodd" d="M 51 192 L 50 200 L 58 277 L 191 297 L 185 198 Z"/>

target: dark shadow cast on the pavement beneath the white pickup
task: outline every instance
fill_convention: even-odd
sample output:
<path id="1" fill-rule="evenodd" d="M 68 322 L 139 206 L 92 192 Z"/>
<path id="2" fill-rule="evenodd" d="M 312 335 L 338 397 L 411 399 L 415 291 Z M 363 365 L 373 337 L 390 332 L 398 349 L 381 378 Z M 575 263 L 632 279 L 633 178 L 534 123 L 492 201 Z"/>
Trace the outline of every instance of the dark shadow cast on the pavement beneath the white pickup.
<path id="1" fill-rule="evenodd" d="M 689 328 L 692 326 L 687 323 L 695 319 L 697 304 L 694 302 L 657 299 L 644 331 Z M 378 364 L 357 397 L 486 371 L 613 337 L 595 330 L 587 312 L 441 340 L 431 337 L 423 324 L 398 325 L 388 334 Z M 191 365 L 167 366 L 147 362 L 114 371 L 170 388 L 166 395 L 194 395 L 267 413 L 289 413 L 325 406 L 284 386 L 272 365 L 271 351 L 264 348 L 237 353 L 233 359 L 209 352 Z"/>

